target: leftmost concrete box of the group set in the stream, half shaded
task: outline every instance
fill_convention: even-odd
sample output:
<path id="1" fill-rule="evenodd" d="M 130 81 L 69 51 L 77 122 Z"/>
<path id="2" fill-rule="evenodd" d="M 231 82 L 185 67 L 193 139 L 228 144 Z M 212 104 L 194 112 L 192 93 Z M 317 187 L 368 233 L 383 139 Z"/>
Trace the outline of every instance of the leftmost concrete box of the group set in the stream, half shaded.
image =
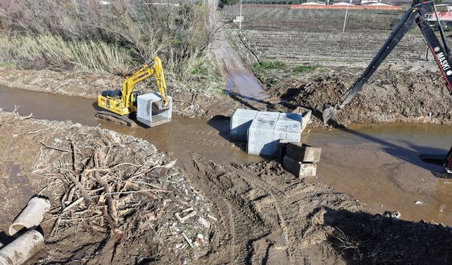
<path id="1" fill-rule="evenodd" d="M 257 110 L 236 110 L 231 118 L 230 139 L 246 141 L 249 126 L 251 126 L 251 122 L 253 122 L 257 113 Z"/>

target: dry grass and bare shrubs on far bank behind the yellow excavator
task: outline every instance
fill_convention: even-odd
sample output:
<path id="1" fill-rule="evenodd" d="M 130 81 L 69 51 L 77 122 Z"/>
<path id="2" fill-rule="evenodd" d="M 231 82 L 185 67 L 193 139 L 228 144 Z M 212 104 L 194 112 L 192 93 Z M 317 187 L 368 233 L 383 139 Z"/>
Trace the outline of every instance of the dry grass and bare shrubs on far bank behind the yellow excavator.
<path id="1" fill-rule="evenodd" d="M 118 74 L 158 56 L 172 78 L 202 69 L 215 73 L 202 64 L 221 26 L 216 6 L 195 0 L 105 3 L 0 1 L 0 61 L 26 69 Z"/>

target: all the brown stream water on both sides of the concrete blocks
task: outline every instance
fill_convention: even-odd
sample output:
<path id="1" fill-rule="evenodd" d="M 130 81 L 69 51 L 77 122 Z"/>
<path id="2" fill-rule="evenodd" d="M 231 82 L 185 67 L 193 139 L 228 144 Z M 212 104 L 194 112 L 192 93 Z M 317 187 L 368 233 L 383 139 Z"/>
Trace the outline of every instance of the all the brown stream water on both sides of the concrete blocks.
<path id="1" fill-rule="evenodd" d="M 94 119 L 95 100 L 0 88 L 0 107 L 38 119 L 72 120 L 113 129 L 148 140 L 162 151 L 189 162 L 196 152 L 216 163 L 262 160 L 246 155 L 242 143 L 228 137 L 229 120 L 173 117 L 169 124 L 150 129 Z M 338 192 L 346 192 L 373 211 L 397 210 L 406 220 L 433 220 L 452 225 L 452 180 L 435 179 L 429 170 L 441 167 L 422 163 L 418 153 L 446 153 L 452 127 L 427 124 L 350 126 L 349 130 L 304 132 L 303 141 L 323 147 L 318 175 Z M 422 201 L 422 204 L 415 204 Z M 382 205 L 382 207 L 380 207 Z"/>

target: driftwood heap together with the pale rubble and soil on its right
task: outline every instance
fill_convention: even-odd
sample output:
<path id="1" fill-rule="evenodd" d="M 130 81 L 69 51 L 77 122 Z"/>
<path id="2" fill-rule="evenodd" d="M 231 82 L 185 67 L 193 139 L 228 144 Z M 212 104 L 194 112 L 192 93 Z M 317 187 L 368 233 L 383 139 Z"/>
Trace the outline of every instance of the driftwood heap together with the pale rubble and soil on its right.
<path id="1" fill-rule="evenodd" d="M 102 260 L 104 247 L 112 247 L 111 261 L 125 263 L 160 257 L 187 261 L 208 252 L 215 214 L 174 167 L 176 160 L 133 136 L 70 122 L 47 126 L 63 133 L 39 141 L 33 168 L 47 180 L 40 194 L 49 196 L 53 206 L 44 220 L 52 224 L 48 240 L 54 245 L 46 261 L 77 256 L 83 240 L 66 254 L 59 247 L 70 245 L 61 240 L 78 232 L 88 232 L 97 242 L 92 251 L 83 250 L 87 260 Z"/>

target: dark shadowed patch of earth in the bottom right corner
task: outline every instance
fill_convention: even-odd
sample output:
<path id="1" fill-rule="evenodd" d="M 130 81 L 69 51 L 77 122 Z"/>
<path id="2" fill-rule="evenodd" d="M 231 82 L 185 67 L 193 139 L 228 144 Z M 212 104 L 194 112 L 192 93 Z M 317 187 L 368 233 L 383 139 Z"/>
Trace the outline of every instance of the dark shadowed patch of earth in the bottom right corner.
<path id="1" fill-rule="evenodd" d="M 323 209 L 328 242 L 348 264 L 450 264 L 452 228 L 364 212 Z"/>

